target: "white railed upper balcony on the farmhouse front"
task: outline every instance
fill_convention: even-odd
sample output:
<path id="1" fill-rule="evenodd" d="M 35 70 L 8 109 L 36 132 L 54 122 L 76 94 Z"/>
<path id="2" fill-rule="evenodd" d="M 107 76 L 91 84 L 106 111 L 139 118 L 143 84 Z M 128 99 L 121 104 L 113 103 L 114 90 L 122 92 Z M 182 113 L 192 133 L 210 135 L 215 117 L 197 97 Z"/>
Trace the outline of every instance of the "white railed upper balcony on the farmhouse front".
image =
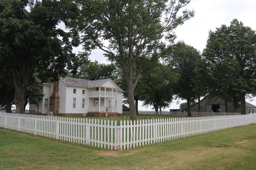
<path id="1" fill-rule="evenodd" d="M 117 89 L 108 87 L 90 88 L 89 97 L 117 97 Z"/>

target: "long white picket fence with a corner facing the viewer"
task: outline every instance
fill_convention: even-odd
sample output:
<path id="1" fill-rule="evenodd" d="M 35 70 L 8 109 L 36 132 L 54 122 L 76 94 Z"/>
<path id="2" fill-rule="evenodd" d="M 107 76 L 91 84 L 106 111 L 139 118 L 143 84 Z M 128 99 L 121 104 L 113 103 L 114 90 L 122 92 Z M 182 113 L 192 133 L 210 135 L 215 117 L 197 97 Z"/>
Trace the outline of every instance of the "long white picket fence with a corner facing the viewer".
<path id="1" fill-rule="evenodd" d="M 0 128 L 115 150 L 256 123 L 256 114 L 113 121 L 0 113 Z"/>

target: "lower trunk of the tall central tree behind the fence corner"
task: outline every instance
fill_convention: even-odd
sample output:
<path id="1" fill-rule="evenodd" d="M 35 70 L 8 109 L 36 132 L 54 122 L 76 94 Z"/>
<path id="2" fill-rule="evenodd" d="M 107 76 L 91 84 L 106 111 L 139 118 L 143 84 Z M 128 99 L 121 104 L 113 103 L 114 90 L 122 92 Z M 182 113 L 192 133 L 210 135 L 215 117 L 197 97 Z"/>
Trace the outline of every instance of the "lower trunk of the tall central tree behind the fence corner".
<path id="1" fill-rule="evenodd" d="M 127 90 L 128 90 L 128 104 L 130 107 L 130 118 L 132 122 L 134 120 L 137 121 L 136 108 L 135 108 L 135 102 L 134 102 L 133 83 L 128 83 Z"/>

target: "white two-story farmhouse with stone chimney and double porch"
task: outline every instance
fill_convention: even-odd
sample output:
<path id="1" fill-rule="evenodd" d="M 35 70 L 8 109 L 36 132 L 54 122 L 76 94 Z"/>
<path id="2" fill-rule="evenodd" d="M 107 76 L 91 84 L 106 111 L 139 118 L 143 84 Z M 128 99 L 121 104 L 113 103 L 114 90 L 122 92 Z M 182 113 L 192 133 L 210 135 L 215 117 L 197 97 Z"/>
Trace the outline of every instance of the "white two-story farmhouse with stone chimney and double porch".
<path id="1" fill-rule="evenodd" d="M 123 90 L 110 78 L 85 80 L 60 78 L 51 84 L 43 83 L 43 100 L 30 104 L 29 112 L 64 116 L 120 115 Z"/>

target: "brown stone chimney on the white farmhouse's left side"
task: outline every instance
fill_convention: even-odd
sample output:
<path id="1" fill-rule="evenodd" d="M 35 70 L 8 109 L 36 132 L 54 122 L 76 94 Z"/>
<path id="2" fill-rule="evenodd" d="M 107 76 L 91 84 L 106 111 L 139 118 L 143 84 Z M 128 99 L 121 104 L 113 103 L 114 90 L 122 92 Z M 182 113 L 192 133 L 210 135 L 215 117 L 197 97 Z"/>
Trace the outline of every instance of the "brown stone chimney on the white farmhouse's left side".
<path id="1" fill-rule="evenodd" d="M 50 107 L 49 111 L 52 112 L 54 116 L 59 115 L 60 108 L 60 95 L 59 95 L 59 81 L 53 83 L 53 92 L 50 97 Z"/>

